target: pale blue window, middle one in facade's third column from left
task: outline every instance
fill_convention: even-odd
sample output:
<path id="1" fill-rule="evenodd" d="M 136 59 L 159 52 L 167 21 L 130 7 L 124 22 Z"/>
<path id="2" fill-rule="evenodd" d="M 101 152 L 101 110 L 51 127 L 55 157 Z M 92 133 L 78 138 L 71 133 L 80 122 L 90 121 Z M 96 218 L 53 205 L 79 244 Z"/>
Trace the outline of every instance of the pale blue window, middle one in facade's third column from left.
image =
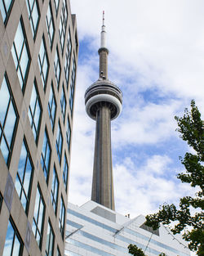
<path id="1" fill-rule="evenodd" d="M 37 83 L 34 80 L 33 92 L 30 99 L 29 105 L 29 121 L 31 128 L 33 130 L 33 136 L 36 142 L 38 142 L 40 123 L 42 117 L 42 106 L 38 93 Z"/>

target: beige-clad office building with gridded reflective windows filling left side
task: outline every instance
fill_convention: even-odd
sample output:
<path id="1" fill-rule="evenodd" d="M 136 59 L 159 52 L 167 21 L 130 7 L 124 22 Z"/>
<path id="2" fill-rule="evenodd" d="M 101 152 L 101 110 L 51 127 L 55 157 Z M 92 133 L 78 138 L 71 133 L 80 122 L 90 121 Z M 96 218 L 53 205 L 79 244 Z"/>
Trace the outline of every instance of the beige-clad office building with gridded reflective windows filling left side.
<path id="1" fill-rule="evenodd" d="M 64 255 L 78 65 L 69 0 L 0 0 L 0 44 L 0 256 Z"/>

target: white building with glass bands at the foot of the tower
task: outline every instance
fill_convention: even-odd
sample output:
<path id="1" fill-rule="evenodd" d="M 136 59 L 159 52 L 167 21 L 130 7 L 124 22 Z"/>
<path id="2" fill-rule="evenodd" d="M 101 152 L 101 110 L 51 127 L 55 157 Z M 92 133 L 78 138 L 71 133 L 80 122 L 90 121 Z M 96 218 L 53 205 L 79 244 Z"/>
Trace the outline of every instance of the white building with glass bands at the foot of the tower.
<path id="1" fill-rule="evenodd" d="M 88 201 L 81 207 L 68 204 L 66 256 L 125 256 L 127 246 L 137 245 L 145 255 L 189 256 L 188 245 L 181 236 L 173 236 L 166 227 L 153 231 L 144 226 L 145 218 L 127 218 L 122 214 Z M 147 248 L 146 248 L 147 247 Z"/>

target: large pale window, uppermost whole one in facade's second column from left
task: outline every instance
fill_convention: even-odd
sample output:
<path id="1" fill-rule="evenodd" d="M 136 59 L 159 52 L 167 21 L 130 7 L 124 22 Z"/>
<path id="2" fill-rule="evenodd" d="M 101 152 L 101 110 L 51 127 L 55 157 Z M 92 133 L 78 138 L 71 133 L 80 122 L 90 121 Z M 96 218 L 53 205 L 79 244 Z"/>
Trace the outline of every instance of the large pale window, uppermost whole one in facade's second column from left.
<path id="1" fill-rule="evenodd" d="M 22 19 L 20 19 L 11 52 L 20 81 L 20 87 L 24 91 L 27 74 L 29 72 L 30 55 Z"/>

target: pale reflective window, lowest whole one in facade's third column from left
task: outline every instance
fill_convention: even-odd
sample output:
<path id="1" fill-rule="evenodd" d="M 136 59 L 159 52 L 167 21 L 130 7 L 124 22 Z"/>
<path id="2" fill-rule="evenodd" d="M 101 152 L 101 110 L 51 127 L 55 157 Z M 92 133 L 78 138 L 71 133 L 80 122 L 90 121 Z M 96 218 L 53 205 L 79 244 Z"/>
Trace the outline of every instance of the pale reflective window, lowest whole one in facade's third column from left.
<path id="1" fill-rule="evenodd" d="M 45 203 L 42 198 L 42 193 L 40 191 L 40 187 L 38 186 L 36 199 L 35 199 L 35 208 L 33 215 L 33 234 L 39 248 L 42 248 L 42 235 L 43 235 L 43 227 L 44 227 L 44 215 L 45 215 Z"/>

